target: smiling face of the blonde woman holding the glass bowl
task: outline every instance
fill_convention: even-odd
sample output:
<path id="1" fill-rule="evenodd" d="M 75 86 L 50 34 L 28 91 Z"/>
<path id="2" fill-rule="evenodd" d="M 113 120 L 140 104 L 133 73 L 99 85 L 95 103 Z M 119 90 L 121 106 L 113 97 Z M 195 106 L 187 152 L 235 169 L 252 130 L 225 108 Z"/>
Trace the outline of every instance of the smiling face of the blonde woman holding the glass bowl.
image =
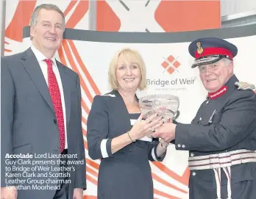
<path id="1" fill-rule="evenodd" d="M 125 55 L 118 57 L 115 71 L 118 89 L 135 91 L 141 82 L 141 70 L 138 62 L 133 58 L 135 57 L 126 57 Z"/>

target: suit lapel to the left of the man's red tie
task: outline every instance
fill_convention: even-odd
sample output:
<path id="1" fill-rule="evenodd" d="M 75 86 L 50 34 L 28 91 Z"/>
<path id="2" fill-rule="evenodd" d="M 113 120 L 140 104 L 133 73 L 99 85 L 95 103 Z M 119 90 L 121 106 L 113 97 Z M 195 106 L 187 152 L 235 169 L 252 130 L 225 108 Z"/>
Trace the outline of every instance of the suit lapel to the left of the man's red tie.
<path id="1" fill-rule="evenodd" d="M 31 48 L 27 49 L 24 52 L 24 56 L 21 57 L 21 64 L 24 65 L 26 72 L 29 74 L 32 82 L 34 82 L 35 87 L 38 88 L 39 93 L 43 96 L 46 103 L 51 107 L 52 111 L 54 112 L 46 80 L 43 77 L 43 73 L 40 69 L 38 60 L 36 59 L 35 54 L 32 52 Z"/>

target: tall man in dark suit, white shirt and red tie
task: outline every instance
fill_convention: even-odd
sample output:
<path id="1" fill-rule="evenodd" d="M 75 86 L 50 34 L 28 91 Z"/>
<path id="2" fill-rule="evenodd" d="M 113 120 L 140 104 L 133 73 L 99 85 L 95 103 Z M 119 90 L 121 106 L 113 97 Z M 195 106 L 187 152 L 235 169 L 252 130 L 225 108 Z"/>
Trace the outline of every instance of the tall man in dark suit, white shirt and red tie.
<path id="1" fill-rule="evenodd" d="M 1 57 L 1 198 L 82 199 L 79 76 L 54 58 L 65 17 L 41 4 L 30 26 L 31 48 Z"/>

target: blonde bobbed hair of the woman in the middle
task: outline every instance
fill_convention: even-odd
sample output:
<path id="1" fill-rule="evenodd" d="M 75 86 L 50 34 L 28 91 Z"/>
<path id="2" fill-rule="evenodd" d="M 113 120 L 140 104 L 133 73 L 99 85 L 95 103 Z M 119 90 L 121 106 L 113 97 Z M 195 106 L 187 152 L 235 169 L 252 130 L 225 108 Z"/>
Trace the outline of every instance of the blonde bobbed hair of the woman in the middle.
<path id="1" fill-rule="evenodd" d="M 116 77 L 116 68 L 118 64 L 118 59 L 120 57 L 124 57 L 128 60 L 128 62 L 136 62 L 138 63 L 138 67 L 141 70 L 141 82 L 138 84 L 139 90 L 146 89 L 146 66 L 145 62 L 143 61 L 143 58 L 141 57 L 141 54 L 138 51 L 132 50 L 130 48 L 123 48 L 115 55 L 110 61 L 110 66 L 108 70 L 108 82 L 110 84 L 110 87 L 113 90 L 117 90 L 119 87 L 117 77 Z"/>

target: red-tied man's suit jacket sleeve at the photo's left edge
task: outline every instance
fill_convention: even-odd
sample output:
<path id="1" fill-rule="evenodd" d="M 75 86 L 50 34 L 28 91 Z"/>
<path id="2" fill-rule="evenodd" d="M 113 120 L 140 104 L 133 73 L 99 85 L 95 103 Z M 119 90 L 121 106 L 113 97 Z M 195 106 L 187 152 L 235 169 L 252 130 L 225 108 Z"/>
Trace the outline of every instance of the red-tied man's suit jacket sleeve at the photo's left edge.
<path id="1" fill-rule="evenodd" d="M 13 180 L 13 177 L 6 176 L 6 167 L 10 167 L 5 163 L 8 154 L 13 154 L 13 112 L 15 101 L 15 87 L 13 77 L 6 63 L 1 58 L 1 187 L 6 187 L 6 181 Z M 9 174 L 13 173 L 10 170 Z M 13 175 L 9 175 L 13 176 Z M 11 186 L 12 184 L 8 184 Z M 14 184 L 13 184 L 14 185 Z"/>

